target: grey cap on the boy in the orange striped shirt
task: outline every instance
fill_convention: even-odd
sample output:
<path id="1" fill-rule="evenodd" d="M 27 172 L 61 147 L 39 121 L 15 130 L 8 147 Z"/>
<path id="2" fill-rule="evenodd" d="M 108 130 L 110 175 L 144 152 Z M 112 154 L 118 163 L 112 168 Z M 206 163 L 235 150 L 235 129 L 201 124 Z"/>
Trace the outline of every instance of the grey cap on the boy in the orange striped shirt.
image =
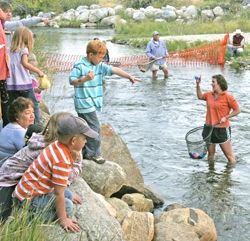
<path id="1" fill-rule="evenodd" d="M 58 120 L 58 134 L 83 134 L 94 139 L 98 137 L 98 133 L 92 130 L 84 119 L 74 115 L 68 115 Z"/>

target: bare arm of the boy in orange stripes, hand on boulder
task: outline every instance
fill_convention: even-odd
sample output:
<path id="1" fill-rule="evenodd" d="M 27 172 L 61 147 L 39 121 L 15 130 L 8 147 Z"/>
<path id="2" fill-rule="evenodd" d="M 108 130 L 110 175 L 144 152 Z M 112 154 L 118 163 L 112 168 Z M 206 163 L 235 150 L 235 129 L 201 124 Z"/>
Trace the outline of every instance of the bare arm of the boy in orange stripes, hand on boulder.
<path id="1" fill-rule="evenodd" d="M 66 231 L 79 232 L 80 227 L 77 222 L 67 217 L 64 190 L 65 187 L 63 186 L 54 186 L 54 192 L 56 195 L 56 214 L 59 219 L 59 223 Z"/>

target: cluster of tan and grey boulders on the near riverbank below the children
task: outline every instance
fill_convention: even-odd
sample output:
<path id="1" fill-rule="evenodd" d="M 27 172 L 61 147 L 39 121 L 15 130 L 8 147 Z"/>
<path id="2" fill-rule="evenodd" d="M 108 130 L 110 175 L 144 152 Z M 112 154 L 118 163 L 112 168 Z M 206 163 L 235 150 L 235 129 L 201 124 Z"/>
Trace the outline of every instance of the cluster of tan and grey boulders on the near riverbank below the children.
<path id="1" fill-rule="evenodd" d="M 50 225 L 44 228 L 45 240 L 217 240 L 213 220 L 200 209 L 173 204 L 154 214 L 163 200 L 145 186 L 126 144 L 108 124 L 102 126 L 102 155 L 108 160 L 102 165 L 83 160 L 82 173 L 70 186 L 83 200 L 74 210 L 81 232 Z"/>

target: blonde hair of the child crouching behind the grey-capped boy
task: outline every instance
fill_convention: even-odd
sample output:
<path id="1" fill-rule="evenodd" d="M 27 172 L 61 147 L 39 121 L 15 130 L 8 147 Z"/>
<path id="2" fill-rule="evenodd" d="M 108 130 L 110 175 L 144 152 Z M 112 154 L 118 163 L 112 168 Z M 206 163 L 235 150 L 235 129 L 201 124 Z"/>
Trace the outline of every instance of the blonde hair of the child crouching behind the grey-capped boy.
<path id="1" fill-rule="evenodd" d="M 46 145 L 49 145 L 50 143 L 58 139 L 58 131 L 57 131 L 58 120 L 64 118 L 67 115 L 71 114 L 69 112 L 58 112 L 50 117 L 44 131 L 42 132 L 42 134 L 44 135 L 44 141 Z"/>

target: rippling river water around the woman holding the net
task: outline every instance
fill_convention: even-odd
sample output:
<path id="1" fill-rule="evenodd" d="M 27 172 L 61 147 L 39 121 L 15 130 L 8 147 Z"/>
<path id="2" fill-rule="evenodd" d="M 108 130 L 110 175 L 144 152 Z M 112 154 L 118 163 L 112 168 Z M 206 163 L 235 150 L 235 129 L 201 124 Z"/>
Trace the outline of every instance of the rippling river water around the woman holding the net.
<path id="1" fill-rule="evenodd" d="M 38 34 L 41 33 L 38 30 Z M 107 40 L 112 30 L 48 29 L 46 52 L 84 54 L 86 43 L 94 38 Z M 127 56 L 143 50 L 107 42 L 110 56 Z M 250 240 L 250 72 L 235 73 L 215 66 L 169 66 L 171 76 L 162 73 L 152 81 L 151 73 L 127 69 L 142 82 L 131 85 L 112 76 L 105 81 L 102 123 L 110 123 L 128 145 L 145 183 L 165 200 L 164 206 L 182 203 L 200 208 L 215 221 L 219 241 Z M 241 105 L 241 114 L 232 119 L 232 139 L 238 159 L 236 168 L 226 168 L 226 159 L 217 150 L 214 169 L 205 160 L 189 158 L 184 140 L 190 129 L 203 125 L 205 102 L 195 94 L 194 76 L 202 76 L 201 88 L 211 89 L 211 76 L 223 74 L 229 91 Z M 73 87 L 68 74 L 58 73 L 51 90 L 44 95 L 51 112 L 70 111 Z"/>

